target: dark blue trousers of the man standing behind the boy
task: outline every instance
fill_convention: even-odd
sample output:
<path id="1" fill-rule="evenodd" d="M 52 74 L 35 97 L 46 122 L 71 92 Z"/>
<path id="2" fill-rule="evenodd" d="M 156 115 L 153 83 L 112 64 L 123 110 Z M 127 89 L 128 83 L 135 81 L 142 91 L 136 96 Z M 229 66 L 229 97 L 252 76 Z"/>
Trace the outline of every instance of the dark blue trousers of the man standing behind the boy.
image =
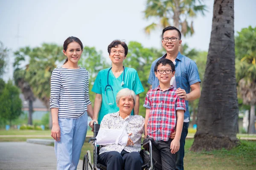
<path id="1" fill-rule="evenodd" d="M 185 146 L 185 139 L 188 134 L 188 128 L 189 128 L 189 122 L 184 122 L 181 136 L 180 136 L 180 150 L 177 153 L 175 153 L 175 155 L 176 155 L 176 170 L 184 170 L 184 167 L 183 167 L 183 158 L 185 155 L 184 146 Z"/>

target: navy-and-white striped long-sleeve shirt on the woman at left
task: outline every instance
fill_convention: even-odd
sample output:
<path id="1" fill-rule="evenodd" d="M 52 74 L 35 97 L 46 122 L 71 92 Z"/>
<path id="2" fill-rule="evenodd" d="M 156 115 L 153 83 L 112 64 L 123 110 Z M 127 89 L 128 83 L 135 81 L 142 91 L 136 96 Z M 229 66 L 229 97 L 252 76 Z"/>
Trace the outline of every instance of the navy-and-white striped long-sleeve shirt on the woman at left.
<path id="1" fill-rule="evenodd" d="M 58 108 L 59 118 L 80 117 L 91 104 L 88 85 L 85 68 L 55 68 L 51 77 L 50 108 Z"/>

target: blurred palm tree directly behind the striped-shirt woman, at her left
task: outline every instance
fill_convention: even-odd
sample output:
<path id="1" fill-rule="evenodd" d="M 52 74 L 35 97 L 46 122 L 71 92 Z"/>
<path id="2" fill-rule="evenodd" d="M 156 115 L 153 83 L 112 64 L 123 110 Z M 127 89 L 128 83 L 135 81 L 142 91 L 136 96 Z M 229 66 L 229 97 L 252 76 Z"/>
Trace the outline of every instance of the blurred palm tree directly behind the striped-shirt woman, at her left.
<path id="1" fill-rule="evenodd" d="M 64 62 L 62 47 L 44 43 L 41 47 L 20 48 L 15 55 L 28 58 L 29 64 L 24 69 L 24 80 L 28 82 L 33 94 L 40 99 L 49 111 L 50 78 L 56 62 Z M 49 127 L 52 127 L 52 117 L 49 114 Z"/>

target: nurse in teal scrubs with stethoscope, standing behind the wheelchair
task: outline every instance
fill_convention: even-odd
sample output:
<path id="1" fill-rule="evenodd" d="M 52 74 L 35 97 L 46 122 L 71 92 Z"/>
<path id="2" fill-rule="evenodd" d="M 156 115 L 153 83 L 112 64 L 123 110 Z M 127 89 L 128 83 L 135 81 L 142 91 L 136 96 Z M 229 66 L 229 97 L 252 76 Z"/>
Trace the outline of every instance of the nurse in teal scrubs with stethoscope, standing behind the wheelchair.
<path id="1" fill-rule="evenodd" d="M 136 94 L 136 105 L 131 115 L 139 114 L 140 93 L 144 88 L 140 82 L 137 71 L 123 65 L 123 61 L 128 54 L 128 46 L 125 42 L 114 40 L 108 45 L 108 54 L 112 62 L 112 67 L 99 71 L 93 84 L 92 91 L 96 93 L 93 120 L 89 123 L 93 127 L 93 122 L 100 124 L 103 117 L 108 113 L 119 111 L 116 105 L 116 94 L 123 88 L 129 88 Z"/>

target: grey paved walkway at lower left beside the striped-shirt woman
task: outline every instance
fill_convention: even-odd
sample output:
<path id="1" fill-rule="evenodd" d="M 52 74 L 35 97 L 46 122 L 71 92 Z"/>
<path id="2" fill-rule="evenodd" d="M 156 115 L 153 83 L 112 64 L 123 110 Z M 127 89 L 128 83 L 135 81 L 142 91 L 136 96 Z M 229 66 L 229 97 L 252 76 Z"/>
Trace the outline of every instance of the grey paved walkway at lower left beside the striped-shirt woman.
<path id="1" fill-rule="evenodd" d="M 56 170 L 54 148 L 27 142 L 0 142 L 0 170 Z M 82 170 L 81 160 L 77 170 Z"/>

